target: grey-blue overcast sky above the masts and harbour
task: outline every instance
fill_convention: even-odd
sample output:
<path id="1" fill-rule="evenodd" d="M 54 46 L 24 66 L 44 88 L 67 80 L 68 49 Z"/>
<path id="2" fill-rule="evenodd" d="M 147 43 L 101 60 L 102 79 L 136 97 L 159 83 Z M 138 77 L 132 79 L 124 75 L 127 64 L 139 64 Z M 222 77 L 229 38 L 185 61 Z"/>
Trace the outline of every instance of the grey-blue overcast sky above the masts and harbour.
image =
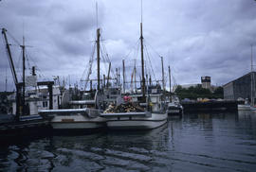
<path id="1" fill-rule="evenodd" d="M 134 60 L 137 67 L 140 65 L 140 8 L 140 0 L 98 0 L 101 47 L 105 47 L 102 53 L 107 52 L 113 68 L 121 69 L 125 60 L 128 80 Z M 145 60 L 156 79 L 161 77 L 159 56 L 164 58 L 166 76 L 171 66 L 175 84 L 200 83 L 201 76 L 210 76 L 212 84 L 222 85 L 247 74 L 251 44 L 256 63 L 254 0 L 144 0 L 142 11 Z M 21 49 L 11 37 L 22 43 L 24 35 L 26 44 L 32 46 L 27 47 L 27 66 L 36 65 L 40 79 L 84 79 L 95 43 L 96 23 L 95 0 L 0 1 L 0 27 L 8 29 L 19 76 Z M 0 91 L 5 91 L 6 76 L 8 89 L 14 87 L 6 46 L 1 40 Z M 96 62 L 94 66 L 93 72 Z M 107 65 L 101 66 L 106 74 Z"/>

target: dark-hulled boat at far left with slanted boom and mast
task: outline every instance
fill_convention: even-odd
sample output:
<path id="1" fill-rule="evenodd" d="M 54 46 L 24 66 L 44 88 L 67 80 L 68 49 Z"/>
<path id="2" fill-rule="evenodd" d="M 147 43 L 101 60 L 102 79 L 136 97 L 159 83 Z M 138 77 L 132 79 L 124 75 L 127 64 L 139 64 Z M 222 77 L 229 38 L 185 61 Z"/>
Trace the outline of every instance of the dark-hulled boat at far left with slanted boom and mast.
<path id="1" fill-rule="evenodd" d="M 23 52 L 23 77 L 22 82 L 18 81 L 16 70 L 13 64 L 11 51 L 9 47 L 9 41 L 7 37 L 7 29 L 2 28 L 2 34 L 4 41 L 7 47 L 7 54 L 9 58 L 9 64 L 11 69 L 11 74 L 13 77 L 13 81 L 16 87 L 16 93 L 14 95 L 12 107 L 9 108 L 9 112 L 6 114 L 1 114 L 0 116 L 0 134 L 1 135 L 26 135 L 31 132 L 42 131 L 48 128 L 49 122 L 48 119 L 42 117 L 38 114 L 38 102 L 40 99 L 34 95 L 27 95 L 26 96 L 26 87 L 27 87 L 27 80 L 25 75 L 25 39 L 23 38 L 23 44 L 20 45 L 22 47 Z M 34 72 L 34 68 L 32 69 L 32 77 L 33 85 L 47 85 L 49 90 L 49 97 L 52 100 L 52 84 L 53 82 L 46 81 L 46 82 L 37 82 L 36 75 Z M 52 101 L 51 101 L 52 102 Z M 52 103 L 50 103 L 50 107 L 52 107 Z"/>

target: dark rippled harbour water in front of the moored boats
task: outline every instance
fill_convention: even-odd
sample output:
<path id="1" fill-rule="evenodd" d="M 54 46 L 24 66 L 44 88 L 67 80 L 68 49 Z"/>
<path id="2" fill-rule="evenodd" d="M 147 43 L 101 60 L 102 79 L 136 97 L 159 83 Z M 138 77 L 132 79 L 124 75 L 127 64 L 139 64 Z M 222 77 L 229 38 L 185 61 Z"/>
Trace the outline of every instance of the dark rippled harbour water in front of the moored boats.
<path id="1" fill-rule="evenodd" d="M 0 171 L 255 170 L 253 112 L 191 113 L 150 131 L 46 135 L 0 147 Z"/>

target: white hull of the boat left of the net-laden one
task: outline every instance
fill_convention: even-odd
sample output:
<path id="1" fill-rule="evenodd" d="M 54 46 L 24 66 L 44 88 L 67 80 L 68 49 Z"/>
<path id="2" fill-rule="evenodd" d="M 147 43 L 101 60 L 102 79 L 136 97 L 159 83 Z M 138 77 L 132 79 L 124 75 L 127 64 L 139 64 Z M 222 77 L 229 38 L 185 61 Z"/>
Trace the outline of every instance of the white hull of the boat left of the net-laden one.
<path id="1" fill-rule="evenodd" d="M 73 115 L 56 115 L 50 124 L 53 129 L 99 129 L 105 127 L 102 117 L 89 118 L 80 113 Z"/>

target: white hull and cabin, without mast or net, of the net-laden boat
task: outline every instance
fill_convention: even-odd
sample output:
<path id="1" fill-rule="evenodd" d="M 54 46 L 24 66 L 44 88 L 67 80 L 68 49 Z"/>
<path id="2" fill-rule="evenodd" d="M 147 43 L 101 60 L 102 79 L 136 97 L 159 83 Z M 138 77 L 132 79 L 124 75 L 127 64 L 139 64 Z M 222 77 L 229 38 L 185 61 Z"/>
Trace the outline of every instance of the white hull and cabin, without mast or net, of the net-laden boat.
<path id="1" fill-rule="evenodd" d="M 141 96 L 141 95 L 138 95 Z M 137 97 L 133 95 L 133 99 Z M 108 129 L 155 129 L 167 122 L 167 112 L 164 111 L 164 104 L 161 104 L 160 95 L 150 95 L 150 103 L 144 103 L 144 109 L 140 112 L 104 112 L 101 117 L 107 119 Z M 148 104 L 149 107 L 145 105 Z M 141 104 L 140 104 L 141 105 Z"/>

